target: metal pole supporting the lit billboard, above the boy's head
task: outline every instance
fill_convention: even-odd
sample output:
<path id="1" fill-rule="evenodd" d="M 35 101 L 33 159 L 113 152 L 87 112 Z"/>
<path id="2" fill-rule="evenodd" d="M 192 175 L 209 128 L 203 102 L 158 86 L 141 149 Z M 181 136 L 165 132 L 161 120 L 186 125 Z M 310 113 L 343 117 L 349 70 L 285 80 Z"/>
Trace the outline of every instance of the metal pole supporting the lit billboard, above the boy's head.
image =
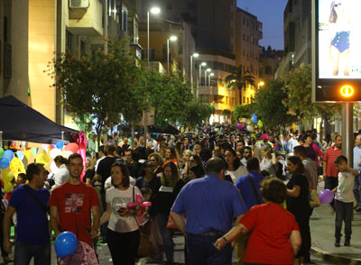
<path id="1" fill-rule="evenodd" d="M 348 166 L 353 168 L 354 163 L 354 119 L 353 103 L 342 106 L 342 154 L 347 157 Z"/>

